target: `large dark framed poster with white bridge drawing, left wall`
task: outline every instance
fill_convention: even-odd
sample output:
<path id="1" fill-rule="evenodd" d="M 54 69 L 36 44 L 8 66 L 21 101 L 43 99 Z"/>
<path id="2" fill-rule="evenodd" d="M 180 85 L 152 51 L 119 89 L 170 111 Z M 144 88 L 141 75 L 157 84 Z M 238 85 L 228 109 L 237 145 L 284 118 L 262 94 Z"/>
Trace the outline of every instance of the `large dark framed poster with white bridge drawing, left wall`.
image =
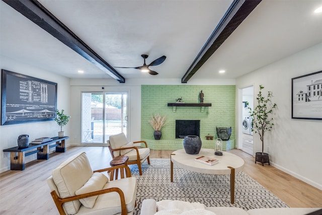
<path id="1" fill-rule="evenodd" d="M 1 125 L 55 119 L 57 83 L 2 69 Z"/>

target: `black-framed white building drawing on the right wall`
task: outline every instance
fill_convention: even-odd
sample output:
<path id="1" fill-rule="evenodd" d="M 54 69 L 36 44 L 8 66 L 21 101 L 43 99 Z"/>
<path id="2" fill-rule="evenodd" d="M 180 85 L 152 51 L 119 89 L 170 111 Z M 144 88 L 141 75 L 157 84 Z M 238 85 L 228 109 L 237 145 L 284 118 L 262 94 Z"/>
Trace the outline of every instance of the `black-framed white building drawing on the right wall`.
<path id="1" fill-rule="evenodd" d="M 322 120 L 322 71 L 292 79 L 292 118 Z"/>

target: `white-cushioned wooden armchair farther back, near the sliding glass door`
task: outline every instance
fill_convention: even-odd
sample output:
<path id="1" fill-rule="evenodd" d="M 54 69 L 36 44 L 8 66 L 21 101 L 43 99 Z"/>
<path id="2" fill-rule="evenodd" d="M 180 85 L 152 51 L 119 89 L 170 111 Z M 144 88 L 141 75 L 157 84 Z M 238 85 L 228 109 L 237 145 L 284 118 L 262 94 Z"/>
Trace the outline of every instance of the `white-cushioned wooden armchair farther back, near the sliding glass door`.
<path id="1" fill-rule="evenodd" d="M 128 142 L 124 133 L 119 133 L 111 135 L 110 139 L 107 140 L 108 147 L 112 158 L 115 158 L 120 155 L 126 155 L 129 157 L 127 164 L 137 164 L 139 173 L 142 175 L 141 164 L 147 160 L 147 163 L 150 164 L 150 149 L 147 148 L 145 141 L 135 141 Z M 143 148 L 141 144 L 144 144 Z"/>

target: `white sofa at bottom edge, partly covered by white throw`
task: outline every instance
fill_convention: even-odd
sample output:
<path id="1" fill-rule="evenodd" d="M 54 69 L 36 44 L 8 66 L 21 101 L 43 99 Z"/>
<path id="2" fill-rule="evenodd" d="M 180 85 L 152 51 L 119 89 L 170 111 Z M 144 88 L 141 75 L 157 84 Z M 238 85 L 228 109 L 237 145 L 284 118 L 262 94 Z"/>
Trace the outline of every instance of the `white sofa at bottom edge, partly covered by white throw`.
<path id="1" fill-rule="evenodd" d="M 246 211 L 238 207 L 206 207 L 206 210 L 210 210 L 216 215 L 305 215 L 321 209 L 322 208 L 283 207 L 259 208 Z M 153 215 L 156 213 L 156 210 L 157 206 L 154 199 L 144 199 L 142 202 L 140 215 Z M 321 213 L 312 213 L 312 215 L 320 214 Z"/>

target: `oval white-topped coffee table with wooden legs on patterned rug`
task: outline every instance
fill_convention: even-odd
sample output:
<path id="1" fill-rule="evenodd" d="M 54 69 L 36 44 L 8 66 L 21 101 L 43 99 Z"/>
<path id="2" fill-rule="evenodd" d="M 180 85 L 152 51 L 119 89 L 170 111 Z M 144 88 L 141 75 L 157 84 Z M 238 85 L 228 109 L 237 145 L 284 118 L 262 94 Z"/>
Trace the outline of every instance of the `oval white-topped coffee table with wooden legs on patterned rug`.
<path id="1" fill-rule="evenodd" d="M 222 156 L 214 155 L 213 149 L 201 149 L 198 155 L 189 155 L 184 149 L 171 154 L 171 182 L 173 182 L 173 164 L 193 172 L 228 175 L 230 174 L 230 202 L 234 203 L 235 172 L 243 170 L 244 160 L 234 154 L 222 152 Z M 200 156 L 218 159 L 219 162 L 212 166 L 195 161 Z"/>

